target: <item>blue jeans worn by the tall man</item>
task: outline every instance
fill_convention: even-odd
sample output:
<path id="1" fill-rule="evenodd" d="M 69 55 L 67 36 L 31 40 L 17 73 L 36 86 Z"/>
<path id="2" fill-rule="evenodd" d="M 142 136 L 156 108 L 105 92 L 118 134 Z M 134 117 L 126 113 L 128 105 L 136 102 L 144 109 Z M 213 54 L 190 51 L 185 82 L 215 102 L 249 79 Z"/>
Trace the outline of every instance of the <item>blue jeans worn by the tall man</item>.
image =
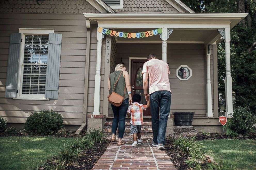
<path id="1" fill-rule="evenodd" d="M 157 144 L 165 144 L 165 131 L 167 126 L 168 115 L 170 113 L 171 99 L 171 92 L 165 90 L 156 91 L 150 94 L 153 141 Z"/>

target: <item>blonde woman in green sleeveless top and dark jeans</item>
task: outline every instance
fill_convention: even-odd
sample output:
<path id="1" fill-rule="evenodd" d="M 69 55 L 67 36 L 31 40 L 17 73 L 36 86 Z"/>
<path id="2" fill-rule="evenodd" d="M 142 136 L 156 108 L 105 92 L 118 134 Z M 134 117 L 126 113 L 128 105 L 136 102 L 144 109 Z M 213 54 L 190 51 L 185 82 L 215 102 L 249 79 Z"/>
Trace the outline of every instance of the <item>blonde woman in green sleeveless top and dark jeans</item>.
<path id="1" fill-rule="evenodd" d="M 120 75 L 120 73 L 122 74 Z M 112 142 L 117 142 L 116 140 L 116 130 L 118 127 L 118 145 L 123 145 L 124 142 L 122 142 L 122 138 L 124 136 L 124 129 L 125 129 L 125 117 L 126 117 L 126 112 L 129 107 L 129 104 L 132 104 L 132 95 L 131 95 L 131 86 L 129 82 L 129 74 L 126 71 L 126 68 L 123 64 L 117 64 L 115 71 L 111 73 L 108 77 L 108 90 L 110 92 L 113 91 L 114 84 L 116 83 L 116 80 L 118 79 L 120 75 L 120 78 L 118 80 L 118 83 L 116 84 L 114 92 L 124 96 L 124 101 L 121 104 L 121 106 L 116 107 L 111 104 L 112 110 L 114 112 L 114 120 L 112 123 Z M 125 90 L 125 94 L 124 94 Z M 119 123 L 119 126 L 118 126 Z"/>

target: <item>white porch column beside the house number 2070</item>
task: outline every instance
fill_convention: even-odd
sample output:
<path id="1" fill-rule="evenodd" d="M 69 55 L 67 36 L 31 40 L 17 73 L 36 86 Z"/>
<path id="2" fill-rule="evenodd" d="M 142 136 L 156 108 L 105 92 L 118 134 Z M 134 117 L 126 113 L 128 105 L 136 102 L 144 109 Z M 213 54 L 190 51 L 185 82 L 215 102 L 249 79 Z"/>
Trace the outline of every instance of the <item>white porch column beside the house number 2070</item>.
<path id="1" fill-rule="evenodd" d="M 93 115 L 100 114 L 101 45 L 102 45 L 102 33 L 97 32 L 97 57 L 96 57 L 96 75 L 95 75 L 95 85 L 94 85 L 94 106 L 93 106 L 93 112 L 92 112 Z"/>

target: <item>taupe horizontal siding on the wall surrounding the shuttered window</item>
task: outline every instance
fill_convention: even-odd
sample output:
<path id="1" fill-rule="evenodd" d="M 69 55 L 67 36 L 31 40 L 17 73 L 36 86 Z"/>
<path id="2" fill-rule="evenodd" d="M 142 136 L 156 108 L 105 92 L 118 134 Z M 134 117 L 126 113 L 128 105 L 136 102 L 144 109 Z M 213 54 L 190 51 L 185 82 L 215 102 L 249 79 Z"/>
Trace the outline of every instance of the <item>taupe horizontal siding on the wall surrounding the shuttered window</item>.
<path id="1" fill-rule="evenodd" d="M 10 122 L 24 123 L 31 112 L 52 109 L 62 114 L 65 124 L 82 124 L 86 52 L 84 15 L 1 13 L 0 21 L 0 115 Z M 62 34 L 58 99 L 4 98 L 10 33 L 18 32 L 19 28 L 53 28 L 54 33 Z"/>

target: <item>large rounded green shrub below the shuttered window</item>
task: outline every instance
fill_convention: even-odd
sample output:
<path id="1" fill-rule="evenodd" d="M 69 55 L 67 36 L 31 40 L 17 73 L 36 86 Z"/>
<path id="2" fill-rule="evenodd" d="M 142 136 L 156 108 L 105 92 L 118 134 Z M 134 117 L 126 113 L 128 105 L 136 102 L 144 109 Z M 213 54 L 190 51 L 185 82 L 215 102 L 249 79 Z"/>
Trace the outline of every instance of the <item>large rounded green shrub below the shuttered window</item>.
<path id="1" fill-rule="evenodd" d="M 32 135 L 49 135 L 63 127 L 61 114 L 52 110 L 42 110 L 31 113 L 24 125 L 26 133 Z"/>

